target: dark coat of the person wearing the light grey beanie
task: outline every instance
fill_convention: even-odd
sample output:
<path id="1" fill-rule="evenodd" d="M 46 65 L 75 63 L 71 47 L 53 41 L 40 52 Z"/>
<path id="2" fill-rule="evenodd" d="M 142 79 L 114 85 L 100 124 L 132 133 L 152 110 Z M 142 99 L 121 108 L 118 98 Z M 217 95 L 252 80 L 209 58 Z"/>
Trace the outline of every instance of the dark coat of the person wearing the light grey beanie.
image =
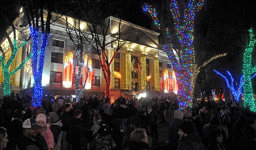
<path id="1" fill-rule="evenodd" d="M 182 123 L 182 121 L 183 120 L 181 119 L 174 119 L 168 127 L 168 135 L 169 135 L 168 144 L 175 148 L 177 148 L 178 146 L 178 142 L 179 142 L 178 131 L 179 131 L 179 125 L 180 123 Z"/>

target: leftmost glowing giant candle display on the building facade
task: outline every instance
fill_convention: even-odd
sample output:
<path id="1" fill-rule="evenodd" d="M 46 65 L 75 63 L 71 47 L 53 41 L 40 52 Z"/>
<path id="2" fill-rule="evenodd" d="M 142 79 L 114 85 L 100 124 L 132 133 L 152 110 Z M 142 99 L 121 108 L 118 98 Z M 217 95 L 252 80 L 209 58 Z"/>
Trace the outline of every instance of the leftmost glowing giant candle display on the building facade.
<path id="1" fill-rule="evenodd" d="M 64 58 L 64 69 L 63 69 L 63 81 L 62 86 L 66 88 L 72 87 L 73 79 L 73 53 L 70 52 L 68 56 Z"/>

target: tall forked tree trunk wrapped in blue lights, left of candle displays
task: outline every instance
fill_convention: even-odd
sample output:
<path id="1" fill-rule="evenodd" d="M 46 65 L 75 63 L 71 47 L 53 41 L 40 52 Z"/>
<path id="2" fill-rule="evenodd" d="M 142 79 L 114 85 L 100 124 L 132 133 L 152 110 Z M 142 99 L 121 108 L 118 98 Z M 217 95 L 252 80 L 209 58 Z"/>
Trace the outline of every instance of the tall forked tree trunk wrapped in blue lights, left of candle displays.
<path id="1" fill-rule="evenodd" d="M 42 87 L 42 73 L 44 67 L 44 58 L 45 58 L 45 50 L 48 46 L 49 41 L 49 33 L 45 34 L 44 32 L 41 33 L 41 45 L 40 51 L 38 51 L 38 40 L 39 40 L 39 32 L 33 26 L 29 27 L 30 35 L 32 36 L 32 73 L 35 81 L 34 86 L 34 103 L 33 106 L 40 106 L 41 105 L 41 98 L 43 97 L 43 87 Z M 39 53 L 39 56 L 38 56 Z M 39 60 L 38 60 L 39 57 Z"/>

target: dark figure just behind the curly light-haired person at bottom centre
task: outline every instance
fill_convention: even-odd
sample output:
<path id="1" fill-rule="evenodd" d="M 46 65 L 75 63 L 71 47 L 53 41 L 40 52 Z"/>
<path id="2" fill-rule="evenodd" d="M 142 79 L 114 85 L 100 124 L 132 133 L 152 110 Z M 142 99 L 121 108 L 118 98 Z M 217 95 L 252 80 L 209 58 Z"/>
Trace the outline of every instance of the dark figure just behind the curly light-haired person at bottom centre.
<path id="1" fill-rule="evenodd" d="M 125 132 L 125 136 L 124 136 L 124 140 L 122 143 L 122 149 L 125 149 L 127 147 L 129 147 L 129 142 L 130 142 L 130 136 L 132 131 L 141 128 L 141 120 L 138 117 L 134 117 L 131 119 L 130 121 L 130 125 L 127 128 L 126 132 Z"/>

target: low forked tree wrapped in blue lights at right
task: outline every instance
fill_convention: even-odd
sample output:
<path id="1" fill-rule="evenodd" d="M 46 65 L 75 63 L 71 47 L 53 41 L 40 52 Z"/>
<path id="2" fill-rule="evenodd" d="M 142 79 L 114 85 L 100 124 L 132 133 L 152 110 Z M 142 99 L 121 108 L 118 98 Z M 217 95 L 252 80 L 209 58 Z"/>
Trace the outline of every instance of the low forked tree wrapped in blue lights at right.
<path id="1" fill-rule="evenodd" d="M 242 85 L 243 85 L 243 76 L 241 76 L 240 78 L 240 83 L 239 86 L 236 85 L 236 87 L 234 86 L 234 78 L 232 77 L 231 73 L 229 71 L 227 71 L 228 75 L 230 76 L 231 82 L 228 81 L 227 77 L 225 77 L 222 73 L 213 70 L 214 72 L 216 72 L 217 74 L 219 74 L 222 78 L 224 78 L 226 80 L 227 86 L 228 88 L 231 90 L 232 94 L 235 97 L 235 100 L 238 102 L 239 98 L 242 95 Z"/>

